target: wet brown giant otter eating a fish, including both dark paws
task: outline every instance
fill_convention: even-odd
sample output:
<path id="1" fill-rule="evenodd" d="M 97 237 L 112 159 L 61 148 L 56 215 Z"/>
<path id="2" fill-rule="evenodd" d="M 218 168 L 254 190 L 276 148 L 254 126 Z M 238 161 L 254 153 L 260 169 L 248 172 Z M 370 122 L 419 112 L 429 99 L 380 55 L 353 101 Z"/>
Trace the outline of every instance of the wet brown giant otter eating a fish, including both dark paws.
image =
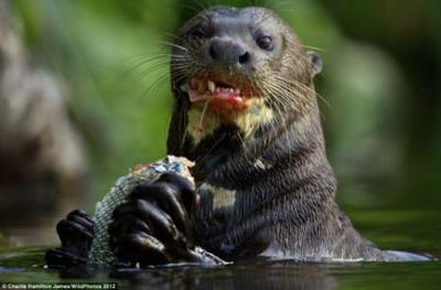
<path id="1" fill-rule="evenodd" d="M 120 262 L 195 261 L 195 245 L 224 260 L 394 260 L 363 239 L 335 202 L 336 181 L 313 77 L 321 61 L 265 8 L 215 7 L 179 31 L 168 153 L 195 161 L 194 189 L 165 174 L 114 212 Z M 51 266 L 87 261 L 93 222 L 58 224 Z"/>

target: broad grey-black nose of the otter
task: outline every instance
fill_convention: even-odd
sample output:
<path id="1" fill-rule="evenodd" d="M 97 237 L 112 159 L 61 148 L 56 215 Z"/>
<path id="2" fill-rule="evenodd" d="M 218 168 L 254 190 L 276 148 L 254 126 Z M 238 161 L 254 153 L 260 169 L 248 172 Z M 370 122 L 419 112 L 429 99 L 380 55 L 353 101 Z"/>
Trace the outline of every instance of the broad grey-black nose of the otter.
<path id="1" fill-rule="evenodd" d="M 228 65 L 246 65 L 250 62 L 250 54 L 244 46 L 233 39 L 215 37 L 209 44 L 209 57 Z"/>

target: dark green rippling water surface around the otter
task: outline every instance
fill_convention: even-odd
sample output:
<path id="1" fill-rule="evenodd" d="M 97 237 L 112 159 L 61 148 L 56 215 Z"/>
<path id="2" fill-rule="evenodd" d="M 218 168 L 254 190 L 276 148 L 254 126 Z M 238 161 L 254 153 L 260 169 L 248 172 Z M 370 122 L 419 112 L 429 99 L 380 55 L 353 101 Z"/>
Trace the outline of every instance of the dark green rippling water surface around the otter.
<path id="1" fill-rule="evenodd" d="M 355 226 L 381 248 L 441 258 L 437 211 L 349 211 Z M 299 264 L 260 261 L 216 268 L 181 267 L 87 272 L 45 269 L 45 248 L 0 251 L 0 282 L 117 282 L 147 289 L 441 289 L 441 262 Z"/>

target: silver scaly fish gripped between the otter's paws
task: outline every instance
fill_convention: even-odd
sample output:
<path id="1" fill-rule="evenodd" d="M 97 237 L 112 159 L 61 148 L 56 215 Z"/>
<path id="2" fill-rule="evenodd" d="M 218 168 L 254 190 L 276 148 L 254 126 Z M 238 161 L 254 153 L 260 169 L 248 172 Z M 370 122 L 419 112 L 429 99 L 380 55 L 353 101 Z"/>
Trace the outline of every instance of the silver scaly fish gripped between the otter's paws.
<path id="1" fill-rule="evenodd" d="M 94 239 L 89 250 L 88 262 L 90 265 L 110 265 L 116 260 L 115 254 L 110 250 L 108 226 L 111 222 L 111 214 L 115 208 L 126 201 L 132 190 L 141 183 L 152 183 L 165 172 L 174 172 L 190 178 L 189 168 L 191 162 L 184 158 L 168 155 L 165 159 L 141 165 L 131 171 L 128 175 L 119 178 L 116 184 L 98 202 L 93 221 Z"/>

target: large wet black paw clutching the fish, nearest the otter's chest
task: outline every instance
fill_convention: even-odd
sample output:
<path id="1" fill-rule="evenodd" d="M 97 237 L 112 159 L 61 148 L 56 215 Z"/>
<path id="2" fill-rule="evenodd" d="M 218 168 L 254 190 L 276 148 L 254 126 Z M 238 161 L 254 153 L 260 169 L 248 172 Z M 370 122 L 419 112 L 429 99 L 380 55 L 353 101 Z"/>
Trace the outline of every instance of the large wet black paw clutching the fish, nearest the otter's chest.
<path id="1" fill-rule="evenodd" d="M 174 173 L 137 186 L 115 210 L 109 226 L 118 261 L 148 266 L 197 260 L 192 251 L 195 204 L 193 184 Z"/>

